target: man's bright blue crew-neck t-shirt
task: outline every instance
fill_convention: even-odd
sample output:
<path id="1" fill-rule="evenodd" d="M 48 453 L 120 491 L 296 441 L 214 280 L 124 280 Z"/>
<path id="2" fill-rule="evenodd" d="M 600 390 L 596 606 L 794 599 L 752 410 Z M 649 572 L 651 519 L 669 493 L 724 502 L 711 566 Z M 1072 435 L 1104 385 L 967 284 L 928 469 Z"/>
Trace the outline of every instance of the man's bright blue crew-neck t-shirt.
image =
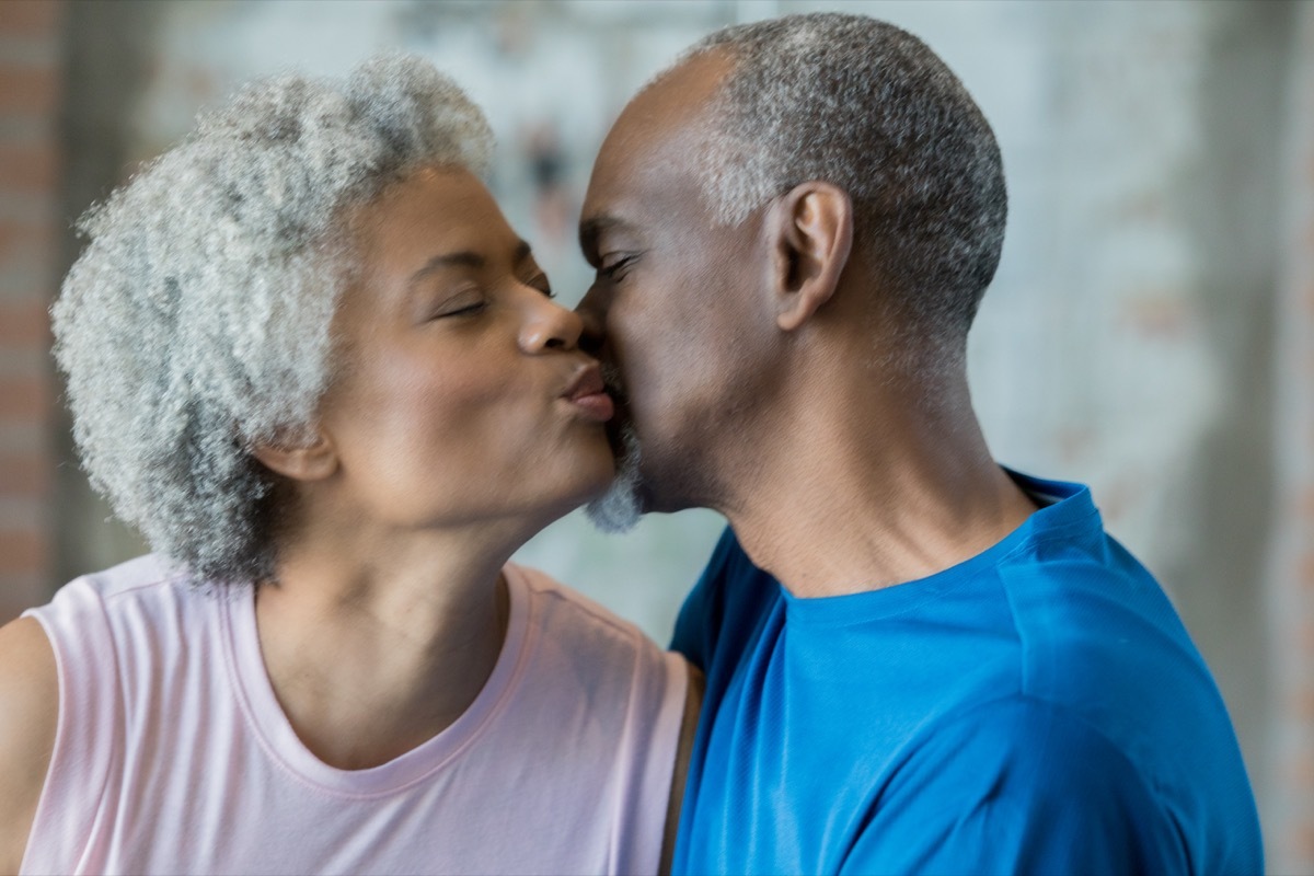
<path id="1" fill-rule="evenodd" d="M 677 873 L 1260 873 L 1222 697 L 1080 485 L 920 580 L 798 599 L 727 531 Z"/>

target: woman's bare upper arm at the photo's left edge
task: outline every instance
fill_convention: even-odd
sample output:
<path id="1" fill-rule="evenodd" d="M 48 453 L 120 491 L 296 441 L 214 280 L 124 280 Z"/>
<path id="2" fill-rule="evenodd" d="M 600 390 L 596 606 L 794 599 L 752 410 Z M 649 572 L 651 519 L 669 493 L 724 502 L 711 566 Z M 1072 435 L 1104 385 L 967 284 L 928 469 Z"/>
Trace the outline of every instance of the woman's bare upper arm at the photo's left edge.
<path id="1" fill-rule="evenodd" d="M 0 873 L 17 873 L 59 720 L 55 653 L 35 620 L 0 626 Z"/>

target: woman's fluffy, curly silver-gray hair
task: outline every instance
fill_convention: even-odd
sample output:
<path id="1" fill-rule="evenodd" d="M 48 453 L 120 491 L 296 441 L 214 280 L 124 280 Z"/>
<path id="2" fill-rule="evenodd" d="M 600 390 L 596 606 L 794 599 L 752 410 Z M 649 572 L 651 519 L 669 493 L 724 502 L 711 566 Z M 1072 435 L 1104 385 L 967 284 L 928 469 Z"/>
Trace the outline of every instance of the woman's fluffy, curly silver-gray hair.
<path id="1" fill-rule="evenodd" d="M 83 217 L 51 310 L 92 483 L 201 578 L 273 571 L 254 443 L 311 424 L 350 278 L 344 211 L 426 165 L 486 169 L 491 133 L 417 58 L 285 75 L 202 116 Z"/>

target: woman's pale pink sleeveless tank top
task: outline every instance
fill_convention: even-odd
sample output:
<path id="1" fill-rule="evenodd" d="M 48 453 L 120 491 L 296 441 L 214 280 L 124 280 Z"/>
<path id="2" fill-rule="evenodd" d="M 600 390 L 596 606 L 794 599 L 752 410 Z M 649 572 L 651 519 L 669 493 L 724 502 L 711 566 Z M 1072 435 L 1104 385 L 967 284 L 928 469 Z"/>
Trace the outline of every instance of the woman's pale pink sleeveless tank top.
<path id="1" fill-rule="evenodd" d="M 275 699 L 254 588 L 156 557 L 79 578 L 41 621 L 59 724 L 22 873 L 650 873 L 686 675 L 637 628 L 506 567 L 474 704 L 369 770 L 325 764 Z"/>

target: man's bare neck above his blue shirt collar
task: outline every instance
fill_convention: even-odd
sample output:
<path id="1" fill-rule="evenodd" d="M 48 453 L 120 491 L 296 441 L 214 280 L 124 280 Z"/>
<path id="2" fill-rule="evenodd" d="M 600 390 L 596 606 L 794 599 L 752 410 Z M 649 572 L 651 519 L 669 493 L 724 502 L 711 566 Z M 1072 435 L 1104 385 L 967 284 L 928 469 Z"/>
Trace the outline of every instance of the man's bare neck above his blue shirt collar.
<path id="1" fill-rule="evenodd" d="M 1035 510 L 991 458 L 966 387 L 930 411 L 853 386 L 791 411 L 721 511 L 754 563 L 796 596 L 879 590 L 943 571 Z M 922 402 L 924 405 L 924 402 Z M 890 414 L 895 411 L 896 414 Z"/>

